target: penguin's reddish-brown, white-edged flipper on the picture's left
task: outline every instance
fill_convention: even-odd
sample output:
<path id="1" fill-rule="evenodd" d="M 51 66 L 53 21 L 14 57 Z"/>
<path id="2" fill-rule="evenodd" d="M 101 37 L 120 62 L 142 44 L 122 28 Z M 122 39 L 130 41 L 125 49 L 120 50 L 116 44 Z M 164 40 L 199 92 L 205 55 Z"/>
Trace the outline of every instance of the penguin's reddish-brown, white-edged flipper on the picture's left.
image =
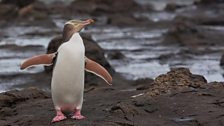
<path id="1" fill-rule="evenodd" d="M 56 57 L 57 53 L 51 53 L 51 54 L 42 54 L 33 56 L 31 58 L 26 59 L 23 61 L 20 65 L 20 69 L 26 69 L 28 67 L 34 66 L 34 65 L 52 65 L 54 58 Z"/>

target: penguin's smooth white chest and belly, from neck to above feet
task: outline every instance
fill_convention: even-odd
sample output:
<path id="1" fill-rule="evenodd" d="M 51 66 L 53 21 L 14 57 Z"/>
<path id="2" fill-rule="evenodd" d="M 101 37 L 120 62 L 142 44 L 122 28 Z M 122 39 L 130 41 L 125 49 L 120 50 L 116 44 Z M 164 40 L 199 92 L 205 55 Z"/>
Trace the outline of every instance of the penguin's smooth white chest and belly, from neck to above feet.
<path id="1" fill-rule="evenodd" d="M 76 33 L 77 34 L 77 33 Z M 58 49 L 51 90 L 55 106 L 82 106 L 85 48 L 81 37 L 73 35 Z"/>

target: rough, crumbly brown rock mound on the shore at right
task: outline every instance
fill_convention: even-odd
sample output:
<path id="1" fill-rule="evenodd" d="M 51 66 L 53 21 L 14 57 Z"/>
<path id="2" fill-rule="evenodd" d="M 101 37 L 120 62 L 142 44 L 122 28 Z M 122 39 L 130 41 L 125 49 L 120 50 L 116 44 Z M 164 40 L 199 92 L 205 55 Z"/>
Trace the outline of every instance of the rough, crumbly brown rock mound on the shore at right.
<path id="1" fill-rule="evenodd" d="M 149 92 L 151 96 L 162 93 L 171 93 L 174 90 L 185 88 L 204 88 L 207 80 L 201 75 L 194 75 L 187 68 L 171 69 L 167 74 L 159 75 L 155 78 Z"/>

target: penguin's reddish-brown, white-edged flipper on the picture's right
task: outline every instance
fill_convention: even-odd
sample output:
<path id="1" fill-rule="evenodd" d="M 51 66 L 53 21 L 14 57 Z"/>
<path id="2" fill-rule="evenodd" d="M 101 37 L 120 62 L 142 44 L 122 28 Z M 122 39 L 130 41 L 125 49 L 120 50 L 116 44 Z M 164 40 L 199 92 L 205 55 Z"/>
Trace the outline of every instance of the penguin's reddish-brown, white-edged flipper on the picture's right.
<path id="1" fill-rule="evenodd" d="M 102 79 L 104 79 L 109 85 L 112 85 L 112 77 L 109 72 L 100 64 L 85 57 L 85 70 L 91 72 Z"/>

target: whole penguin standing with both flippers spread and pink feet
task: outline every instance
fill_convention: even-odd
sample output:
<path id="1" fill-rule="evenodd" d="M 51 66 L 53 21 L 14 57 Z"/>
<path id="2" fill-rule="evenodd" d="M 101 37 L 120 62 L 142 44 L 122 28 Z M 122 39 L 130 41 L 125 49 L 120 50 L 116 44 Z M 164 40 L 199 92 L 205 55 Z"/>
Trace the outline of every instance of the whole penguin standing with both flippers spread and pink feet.
<path id="1" fill-rule="evenodd" d="M 56 109 L 56 116 L 52 122 L 66 119 L 63 110 L 73 112 L 73 119 L 83 119 L 81 108 L 84 93 L 84 70 L 92 72 L 111 85 L 112 77 L 100 64 L 85 57 L 85 48 L 79 32 L 94 21 L 70 20 L 63 29 L 63 43 L 58 51 L 52 54 L 43 54 L 26 59 L 21 69 L 39 64 L 50 65 L 54 57 L 57 60 L 53 69 L 51 92 Z"/>

